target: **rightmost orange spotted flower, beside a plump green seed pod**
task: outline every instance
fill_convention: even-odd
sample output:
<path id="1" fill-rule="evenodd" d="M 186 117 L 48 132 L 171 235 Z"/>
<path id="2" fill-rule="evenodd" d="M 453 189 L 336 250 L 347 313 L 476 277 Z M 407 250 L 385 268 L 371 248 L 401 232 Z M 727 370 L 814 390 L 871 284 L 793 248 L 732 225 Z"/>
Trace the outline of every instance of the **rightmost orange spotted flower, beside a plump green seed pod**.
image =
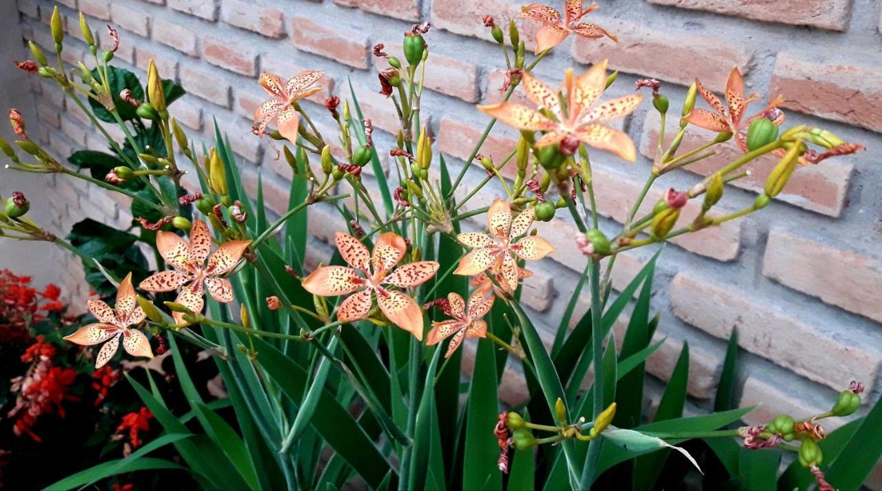
<path id="1" fill-rule="evenodd" d="M 729 79 L 726 79 L 725 105 L 719 97 L 701 85 L 699 79 L 695 79 L 695 85 L 698 87 L 701 97 L 714 110 L 693 109 L 688 116 L 684 117 L 684 120 L 712 132 L 731 132 L 735 135 L 738 147 L 744 153 L 747 152 L 747 136 L 744 132 L 751 125 L 751 121 L 759 117 L 766 117 L 775 125 L 780 126 L 784 122 L 784 113 L 778 109 L 778 106 L 784 102 L 781 96 L 769 102 L 766 108 L 757 114 L 744 120 L 744 111 L 747 110 L 748 104 L 759 101 L 759 94 L 751 94 L 750 97 L 744 98 L 744 77 L 741 76 L 737 66 L 732 69 L 732 72 L 729 72 Z"/>

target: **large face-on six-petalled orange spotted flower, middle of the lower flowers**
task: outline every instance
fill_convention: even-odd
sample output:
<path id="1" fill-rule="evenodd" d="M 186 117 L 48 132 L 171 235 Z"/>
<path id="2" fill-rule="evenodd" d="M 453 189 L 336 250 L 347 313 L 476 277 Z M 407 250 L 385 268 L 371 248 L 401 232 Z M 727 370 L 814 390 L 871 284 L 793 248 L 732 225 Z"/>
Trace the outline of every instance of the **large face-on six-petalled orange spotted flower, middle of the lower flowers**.
<path id="1" fill-rule="evenodd" d="M 395 268 L 404 259 L 407 244 L 394 232 L 385 232 L 377 238 L 373 254 L 360 240 L 347 233 L 337 232 L 334 242 L 350 268 L 318 268 L 303 280 L 303 288 L 321 297 L 353 293 L 337 309 L 337 320 L 342 322 L 367 317 L 376 296 L 377 305 L 389 321 L 422 341 L 422 309 L 413 298 L 401 291 L 390 290 L 389 286 L 410 288 L 426 283 L 437 273 L 438 263 L 417 261 Z"/>

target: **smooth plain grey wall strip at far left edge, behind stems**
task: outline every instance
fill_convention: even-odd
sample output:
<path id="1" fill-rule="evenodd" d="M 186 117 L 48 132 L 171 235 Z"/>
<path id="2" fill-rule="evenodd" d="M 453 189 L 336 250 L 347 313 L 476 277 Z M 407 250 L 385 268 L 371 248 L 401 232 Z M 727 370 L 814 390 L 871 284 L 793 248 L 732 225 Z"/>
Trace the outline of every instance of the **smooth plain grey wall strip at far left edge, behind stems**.
<path id="1" fill-rule="evenodd" d="M 16 108 L 25 116 L 25 121 L 36 121 L 34 95 L 28 88 L 27 74 L 16 70 L 13 59 L 26 59 L 25 48 L 21 44 L 19 12 L 15 2 L 0 2 L 0 112 L 4 124 L 0 125 L 0 136 L 12 142 L 16 140 L 11 126 L 6 123 L 6 115 Z M 34 125 L 36 129 L 38 125 Z M 4 170 L 0 167 L 0 196 L 5 200 L 13 191 L 25 193 L 28 200 L 38 203 L 48 198 L 46 193 L 49 176 L 28 176 L 21 172 Z M 48 207 L 34 206 L 29 214 L 37 223 L 48 224 L 51 215 Z M 53 230 L 56 231 L 56 230 Z M 58 252 L 49 243 L 4 241 L 0 253 L 0 269 L 10 269 L 18 275 L 34 276 L 34 285 L 41 288 L 45 283 L 58 281 L 58 268 L 55 267 Z"/>

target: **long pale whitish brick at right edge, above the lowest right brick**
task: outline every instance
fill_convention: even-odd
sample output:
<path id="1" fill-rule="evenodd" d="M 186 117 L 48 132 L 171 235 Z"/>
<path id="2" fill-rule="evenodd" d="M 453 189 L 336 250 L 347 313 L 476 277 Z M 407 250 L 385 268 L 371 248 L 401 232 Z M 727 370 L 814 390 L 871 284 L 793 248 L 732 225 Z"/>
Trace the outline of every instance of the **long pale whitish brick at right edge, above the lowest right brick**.
<path id="1" fill-rule="evenodd" d="M 854 344 L 843 344 L 823 326 L 802 320 L 763 298 L 731 284 L 679 273 L 670 288 L 674 315 L 708 334 L 729 339 L 805 378 L 841 390 L 848 381 L 876 381 L 882 357 Z"/>

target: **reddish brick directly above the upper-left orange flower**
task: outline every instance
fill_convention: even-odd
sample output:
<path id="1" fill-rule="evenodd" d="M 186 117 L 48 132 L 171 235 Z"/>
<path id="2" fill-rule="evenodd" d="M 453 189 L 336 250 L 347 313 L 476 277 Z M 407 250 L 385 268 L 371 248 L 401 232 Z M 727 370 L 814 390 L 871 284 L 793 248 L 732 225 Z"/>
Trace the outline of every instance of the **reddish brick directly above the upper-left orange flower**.
<path id="1" fill-rule="evenodd" d="M 368 67 L 368 37 L 361 32 L 295 17 L 291 20 L 291 39 L 297 49 L 355 68 Z"/>

